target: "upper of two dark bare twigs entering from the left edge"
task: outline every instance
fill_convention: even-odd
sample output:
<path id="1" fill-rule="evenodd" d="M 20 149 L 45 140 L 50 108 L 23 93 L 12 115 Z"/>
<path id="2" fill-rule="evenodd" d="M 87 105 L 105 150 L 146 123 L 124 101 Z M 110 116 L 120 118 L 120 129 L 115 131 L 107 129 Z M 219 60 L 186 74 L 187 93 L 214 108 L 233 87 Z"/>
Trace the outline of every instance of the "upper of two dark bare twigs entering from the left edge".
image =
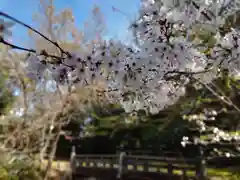
<path id="1" fill-rule="evenodd" d="M 12 20 L 12 21 L 14 21 L 14 22 L 16 22 L 16 23 L 18 23 L 18 24 L 20 24 L 20 25 L 22 25 L 22 26 L 24 26 L 24 27 L 26 27 L 26 28 L 28 28 L 28 29 L 30 29 L 31 31 L 37 33 L 38 35 L 40 35 L 41 37 L 43 37 L 44 39 L 46 39 L 47 41 L 49 41 L 50 43 L 52 43 L 53 45 L 55 45 L 55 46 L 61 51 L 61 53 L 66 54 L 66 52 L 58 45 L 57 42 L 52 41 L 51 39 L 49 39 L 48 37 L 46 37 L 45 35 L 43 35 L 43 34 L 40 33 L 39 31 L 37 31 L 36 29 L 32 28 L 31 26 L 23 23 L 22 21 L 14 18 L 14 17 L 12 17 L 12 16 L 10 16 L 10 15 L 2 12 L 2 11 L 0 11 L 0 16 L 3 16 L 3 17 L 5 17 L 5 18 L 8 18 L 8 19 L 10 19 L 10 20 Z"/>

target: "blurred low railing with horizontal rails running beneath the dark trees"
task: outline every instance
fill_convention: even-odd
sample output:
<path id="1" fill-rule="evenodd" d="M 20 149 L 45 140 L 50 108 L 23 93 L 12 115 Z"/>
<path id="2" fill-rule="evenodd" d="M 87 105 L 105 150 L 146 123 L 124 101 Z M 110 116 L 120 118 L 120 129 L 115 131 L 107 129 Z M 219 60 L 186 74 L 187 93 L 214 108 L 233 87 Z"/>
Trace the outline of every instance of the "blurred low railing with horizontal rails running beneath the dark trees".
<path id="1" fill-rule="evenodd" d="M 122 161 L 122 162 L 121 162 Z M 73 151 L 71 156 L 72 173 L 80 172 L 84 168 L 101 168 L 117 170 L 126 174 L 128 172 L 167 173 L 168 175 L 179 174 L 187 177 L 192 176 L 204 180 L 205 174 L 202 168 L 204 161 L 196 159 L 175 159 L 154 156 L 125 155 L 121 159 L 119 155 L 76 155 Z"/>

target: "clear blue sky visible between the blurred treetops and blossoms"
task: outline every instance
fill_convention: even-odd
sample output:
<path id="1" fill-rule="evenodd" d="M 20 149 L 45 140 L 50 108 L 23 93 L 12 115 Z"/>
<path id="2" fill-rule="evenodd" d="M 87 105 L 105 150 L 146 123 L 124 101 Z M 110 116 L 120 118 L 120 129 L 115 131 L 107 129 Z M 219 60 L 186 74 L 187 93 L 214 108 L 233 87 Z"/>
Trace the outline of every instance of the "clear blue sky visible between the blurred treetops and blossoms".
<path id="1" fill-rule="evenodd" d="M 0 10 L 34 27 L 36 24 L 34 25 L 32 15 L 39 9 L 38 2 L 39 0 L 0 0 Z M 55 0 L 58 11 L 63 8 L 72 9 L 79 28 L 89 18 L 94 4 L 100 6 L 104 15 L 108 30 L 106 35 L 124 40 L 129 21 L 137 17 L 140 0 Z M 113 12 L 112 6 L 120 9 L 127 17 Z M 13 32 L 13 42 L 18 45 L 28 44 L 26 29 L 16 25 Z"/>

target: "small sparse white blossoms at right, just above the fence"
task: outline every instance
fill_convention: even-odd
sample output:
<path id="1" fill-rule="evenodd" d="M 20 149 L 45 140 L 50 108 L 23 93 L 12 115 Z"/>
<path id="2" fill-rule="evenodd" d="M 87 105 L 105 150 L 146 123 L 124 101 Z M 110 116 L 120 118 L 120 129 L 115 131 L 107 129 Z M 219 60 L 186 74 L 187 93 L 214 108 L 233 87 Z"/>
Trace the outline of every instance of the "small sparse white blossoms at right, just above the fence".
<path id="1" fill-rule="evenodd" d="M 191 138 L 188 136 L 183 136 L 181 145 L 183 147 L 186 147 L 187 145 L 194 144 L 203 147 L 206 146 L 208 148 L 211 147 L 211 145 L 213 145 L 215 147 L 213 148 L 212 153 L 214 153 L 215 155 L 217 154 L 222 156 L 224 154 L 224 156 L 227 157 L 235 156 L 237 153 L 235 154 L 232 151 L 229 151 L 227 148 L 221 149 L 221 145 L 223 145 L 223 147 L 224 146 L 226 147 L 226 145 L 228 145 L 228 147 L 234 146 L 233 149 L 239 152 L 240 141 L 239 133 L 238 132 L 230 133 L 221 130 L 220 128 L 214 125 L 211 125 L 211 122 L 216 120 L 218 114 L 219 112 L 213 109 L 204 109 L 203 113 L 184 116 L 184 119 L 187 119 L 196 125 L 194 127 L 196 127 L 199 130 L 199 136 Z"/>

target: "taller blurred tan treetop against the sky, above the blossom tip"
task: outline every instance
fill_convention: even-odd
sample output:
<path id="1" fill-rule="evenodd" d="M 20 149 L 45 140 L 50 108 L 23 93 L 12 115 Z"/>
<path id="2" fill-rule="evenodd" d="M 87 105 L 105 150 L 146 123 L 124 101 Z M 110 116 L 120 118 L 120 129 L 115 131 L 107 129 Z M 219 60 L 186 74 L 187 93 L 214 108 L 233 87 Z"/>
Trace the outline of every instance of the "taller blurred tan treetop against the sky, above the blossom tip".
<path id="1" fill-rule="evenodd" d="M 81 50 L 82 34 L 75 26 L 71 9 L 66 8 L 58 13 L 54 6 L 54 0 L 40 0 L 39 12 L 33 15 L 33 19 L 43 34 L 60 44 L 64 49 L 76 52 Z M 33 47 L 39 51 L 44 47 L 48 53 L 59 53 L 53 44 L 36 36 L 31 31 L 29 33 L 30 36 L 33 36 Z"/>

